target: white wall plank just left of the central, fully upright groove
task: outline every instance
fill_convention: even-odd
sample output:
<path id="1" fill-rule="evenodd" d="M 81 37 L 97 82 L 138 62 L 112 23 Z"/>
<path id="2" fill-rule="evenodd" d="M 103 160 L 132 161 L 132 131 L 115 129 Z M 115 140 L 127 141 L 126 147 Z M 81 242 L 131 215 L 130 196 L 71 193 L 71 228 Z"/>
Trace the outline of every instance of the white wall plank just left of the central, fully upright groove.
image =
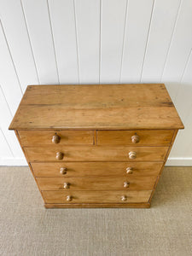
<path id="1" fill-rule="evenodd" d="M 99 83 L 100 1 L 74 0 L 80 84 Z"/>

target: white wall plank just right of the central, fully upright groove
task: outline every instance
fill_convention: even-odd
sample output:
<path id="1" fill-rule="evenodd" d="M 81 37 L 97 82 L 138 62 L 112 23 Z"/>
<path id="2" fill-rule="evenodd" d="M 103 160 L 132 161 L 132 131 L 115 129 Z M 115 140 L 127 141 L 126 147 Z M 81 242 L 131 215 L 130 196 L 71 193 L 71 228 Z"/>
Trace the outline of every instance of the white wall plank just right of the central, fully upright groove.
<path id="1" fill-rule="evenodd" d="M 119 83 L 127 0 L 102 0 L 100 83 Z"/>

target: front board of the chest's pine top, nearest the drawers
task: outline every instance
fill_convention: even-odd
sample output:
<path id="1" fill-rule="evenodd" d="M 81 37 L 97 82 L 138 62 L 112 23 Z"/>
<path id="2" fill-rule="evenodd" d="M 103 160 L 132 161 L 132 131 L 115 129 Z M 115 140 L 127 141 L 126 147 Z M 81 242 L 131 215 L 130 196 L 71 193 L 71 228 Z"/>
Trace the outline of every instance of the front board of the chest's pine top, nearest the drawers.
<path id="1" fill-rule="evenodd" d="M 172 129 L 177 123 L 177 114 L 171 107 L 133 107 L 133 108 L 91 108 L 91 109 L 66 109 L 61 105 L 50 105 L 49 112 L 47 105 L 32 105 L 20 106 L 18 116 L 21 119 L 15 118 L 14 124 L 10 126 L 10 130 L 18 129 L 94 129 L 99 130 L 128 130 L 128 129 Z M 40 109 L 39 109 L 40 108 Z M 44 119 L 40 119 L 38 110 L 43 114 Z M 65 113 L 64 119 L 61 119 L 61 113 Z M 148 113 L 152 118 L 148 118 Z M 52 127 L 49 126 L 49 114 L 54 115 Z M 71 117 L 73 118 L 73 125 Z M 149 115 L 150 116 L 150 115 Z M 170 118 L 170 116 L 172 118 Z M 159 120 L 162 120 L 159 123 Z M 27 119 L 28 122 L 27 123 Z M 33 120 L 33 121 L 32 121 Z M 116 120 L 116 122 L 115 122 Z M 137 122 L 136 122 L 137 120 Z M 136 123 L 135 123 L 136 122 Z M 136 124 L 136 125 L 134 125 Z M 173 124 L 173 125 L 172 125 Z M 47 128 L 45 128 L 45 126 Z M 180 125 L 178 128 L 183 129 Z M 18 129 L 19 130 L 19 129 Z"/>

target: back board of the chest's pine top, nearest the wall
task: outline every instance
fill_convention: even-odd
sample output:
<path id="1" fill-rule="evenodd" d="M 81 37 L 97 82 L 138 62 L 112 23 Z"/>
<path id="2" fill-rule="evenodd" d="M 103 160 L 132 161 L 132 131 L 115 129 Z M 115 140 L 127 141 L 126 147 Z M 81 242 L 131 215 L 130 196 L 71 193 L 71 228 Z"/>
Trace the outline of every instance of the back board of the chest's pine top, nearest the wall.
<path id="1" fill-rule="evenodd" d="M 21 102 L 22 105 L 61 104 L 66 108 L 165 106 L 166 103 L 171 104 L 172 100 L 164 84 L 28 85 Z"/>

